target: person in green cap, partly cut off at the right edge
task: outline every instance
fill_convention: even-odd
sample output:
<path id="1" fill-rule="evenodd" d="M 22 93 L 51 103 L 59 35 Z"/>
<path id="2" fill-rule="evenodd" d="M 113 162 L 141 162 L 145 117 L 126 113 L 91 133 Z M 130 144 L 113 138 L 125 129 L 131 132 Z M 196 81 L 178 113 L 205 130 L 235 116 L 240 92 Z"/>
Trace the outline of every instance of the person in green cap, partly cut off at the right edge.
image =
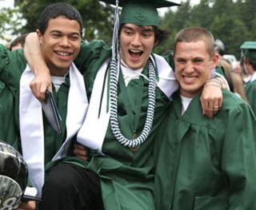
<path id="1" fill-rule="evenodd" d="M 248 42 L 246 42 L 248 43 Z M 256 113 L 256 42 L 250 42 L 250 45 L 243 45 L 243 68 L 250 74 L 250 81 L 246 83 L 246 96 Z"/>

